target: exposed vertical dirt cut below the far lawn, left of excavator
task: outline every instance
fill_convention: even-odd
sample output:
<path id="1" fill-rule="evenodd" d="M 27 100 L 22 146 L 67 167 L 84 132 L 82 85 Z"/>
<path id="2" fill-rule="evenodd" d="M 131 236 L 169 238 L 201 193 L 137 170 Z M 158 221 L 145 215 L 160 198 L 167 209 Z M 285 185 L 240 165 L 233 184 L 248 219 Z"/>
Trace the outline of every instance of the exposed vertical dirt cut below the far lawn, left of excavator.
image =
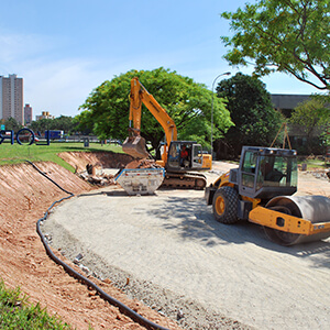
<path id="1" fill-rule="evenodd" d="M 101 168 L 123 168 L 133 161 L 133 157 L 130 155 L 112 152 L 66 152 L 59 153 L 58 156 L 76 168 L 76 172 L 86 170 L 87 164 Z"/>

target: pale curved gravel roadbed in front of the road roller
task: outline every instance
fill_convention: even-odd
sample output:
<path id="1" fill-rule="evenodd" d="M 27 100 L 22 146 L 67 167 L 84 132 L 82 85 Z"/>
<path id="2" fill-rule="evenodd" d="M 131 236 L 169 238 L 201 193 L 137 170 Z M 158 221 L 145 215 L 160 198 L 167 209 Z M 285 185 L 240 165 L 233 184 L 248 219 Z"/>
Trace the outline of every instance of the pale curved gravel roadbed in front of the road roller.
<path id="1" fill-rule="evenodd" d="M 43 231 L 54 249 L 80 253 L 95 275 L 187 329 L 329 328 L 329 239 L 279 246 L 255 224 L 216 222 L 202 191 L 156 193 L 76 197 Z"/>

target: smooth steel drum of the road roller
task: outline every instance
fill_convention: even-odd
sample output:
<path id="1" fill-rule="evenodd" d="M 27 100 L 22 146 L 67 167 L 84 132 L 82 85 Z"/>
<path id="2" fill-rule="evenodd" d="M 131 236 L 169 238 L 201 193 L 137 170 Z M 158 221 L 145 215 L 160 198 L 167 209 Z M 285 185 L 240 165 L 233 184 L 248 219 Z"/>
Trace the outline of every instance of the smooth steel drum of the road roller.
<path id="1" fill-rule="evenodd" d="M 309 220 L 311 223 L 330 222 L 330 199 L 324 196 L 279 196 L 270 200 L 266 208 Z M 265 232 L 273 241 L 283 245 L 324 240 L 330 232 L 302 235 L 265 227 Z"/>

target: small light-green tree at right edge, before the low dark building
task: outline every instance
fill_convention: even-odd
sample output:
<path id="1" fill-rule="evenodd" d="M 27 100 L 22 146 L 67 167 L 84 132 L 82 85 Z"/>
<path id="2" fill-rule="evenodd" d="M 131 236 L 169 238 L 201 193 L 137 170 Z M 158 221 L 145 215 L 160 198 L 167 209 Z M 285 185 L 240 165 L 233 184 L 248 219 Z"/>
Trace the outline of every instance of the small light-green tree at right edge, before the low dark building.
<path id="1" fill-rule="evenodd" d="M 326 146 L 326 131 L 330 124 L 327 100 L 312 97 L 298 105 L 289 119 L 290 124 L 298 125 L 306 139 L 306 147 L 302 153 L 323 153 Z"/>

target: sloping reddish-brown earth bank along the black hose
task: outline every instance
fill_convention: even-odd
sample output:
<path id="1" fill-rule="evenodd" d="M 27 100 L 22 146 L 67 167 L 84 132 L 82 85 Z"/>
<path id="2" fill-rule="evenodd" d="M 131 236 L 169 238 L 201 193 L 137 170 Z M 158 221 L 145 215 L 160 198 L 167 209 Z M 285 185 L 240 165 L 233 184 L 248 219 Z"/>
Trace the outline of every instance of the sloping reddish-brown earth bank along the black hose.
<path id="1" fill-rule="evenodd" d="M 86 155 L 90 157 L 88 161 L 82 154 L 81 157 L 76 155 L 80 160 L 78 163 L 84 163 L 82 167 L 95 157 L 92 154 Z M 129 161 L 128 156 L 119 155 L 117 163 Z M 36 165 L 59 186 L 76 195 L 94 189 L 91 185 L 57 164 Z M 58 315 L 77 329 L 88 329 L 89 326 L 94 329 L 144 329 L 101 299 L 94 290 L 70 277 L 46 255 L 35 231 L 35 223 L 55 200 L 67 196 L 30 164 L 0 166 L 0 277 L 11 288 L 20 286 L 30 296 L 31 302 L 40 301 L 51 315 Z M 58 254 L 56 252 L 61 256 Z M 69 265 L 80 272 L 78 266 L 72 263 Z M 169 329 L 179 329 L 174 321 L 138 300 L 129 299 L 111 285 L 111 279 L 90 279 L 146 319 Z"/>

